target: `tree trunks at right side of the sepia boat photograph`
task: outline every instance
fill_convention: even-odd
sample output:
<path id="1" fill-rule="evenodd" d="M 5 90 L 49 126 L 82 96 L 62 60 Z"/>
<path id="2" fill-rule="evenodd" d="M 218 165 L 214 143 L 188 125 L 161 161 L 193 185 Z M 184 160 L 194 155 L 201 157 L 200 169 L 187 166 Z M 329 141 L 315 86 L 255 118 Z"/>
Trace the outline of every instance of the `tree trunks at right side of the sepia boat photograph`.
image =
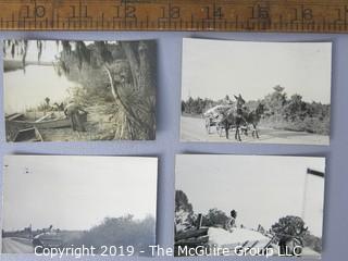
<path id="1" fill-rule="evenodd" d="M 102 53 L 107 52 L 105 45 L 98 45 L 112 96 L 116 105 L 122 110 L 123 122 L 127 125 L 123 125 L 119 129 L 119 135 L 123 136 L 123 132 L 126 128 L 128 129 L 129 138 L 134 139 L 137 136 L 137 132 L 142 129 L 145 139 L 154 139 L 156 87 L 152 82 L 153 75 L 148 54 L 149 47 L 144 41 L 140 41 L 138 46 L 135 42 L 121 42 L 121 46 L 129 62 L 133 89 L 128 88 L 129 82 L 127 83 L 124 75 L 112 74 L 110 63 L 107 60 L 108 55 L 102 55 Z M 127 92 L 122 95 L 121 89 L 127 90 Z"/>

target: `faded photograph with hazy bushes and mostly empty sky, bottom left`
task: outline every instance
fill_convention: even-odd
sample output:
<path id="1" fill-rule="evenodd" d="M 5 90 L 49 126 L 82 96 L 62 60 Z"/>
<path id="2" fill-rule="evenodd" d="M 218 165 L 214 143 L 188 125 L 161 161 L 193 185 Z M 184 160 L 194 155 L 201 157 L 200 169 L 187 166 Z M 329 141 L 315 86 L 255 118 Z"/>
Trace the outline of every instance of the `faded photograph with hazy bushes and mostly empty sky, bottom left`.
<path id="1" fill-rule="evenodd" d="M 7 156 L 2 253 L 149 254 L 157 170 L 157 158 Z"/>

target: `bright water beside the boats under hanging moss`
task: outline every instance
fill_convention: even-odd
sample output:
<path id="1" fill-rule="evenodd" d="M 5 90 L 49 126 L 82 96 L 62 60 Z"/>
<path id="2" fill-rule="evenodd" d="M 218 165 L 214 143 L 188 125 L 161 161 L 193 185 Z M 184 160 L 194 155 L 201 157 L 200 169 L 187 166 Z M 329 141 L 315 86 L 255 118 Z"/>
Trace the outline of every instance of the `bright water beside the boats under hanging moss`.
<path id="1" fill-rule="evenodd" d="M 69 97 L 67 89 L 78 84 L 70 82 L 64 75 L 59 76 L 53 66 L 28 65 L 23 70 L 3 74 L 4 112 L 7 114 L 25 112 L 45 103 L 62 102 Z"/>

